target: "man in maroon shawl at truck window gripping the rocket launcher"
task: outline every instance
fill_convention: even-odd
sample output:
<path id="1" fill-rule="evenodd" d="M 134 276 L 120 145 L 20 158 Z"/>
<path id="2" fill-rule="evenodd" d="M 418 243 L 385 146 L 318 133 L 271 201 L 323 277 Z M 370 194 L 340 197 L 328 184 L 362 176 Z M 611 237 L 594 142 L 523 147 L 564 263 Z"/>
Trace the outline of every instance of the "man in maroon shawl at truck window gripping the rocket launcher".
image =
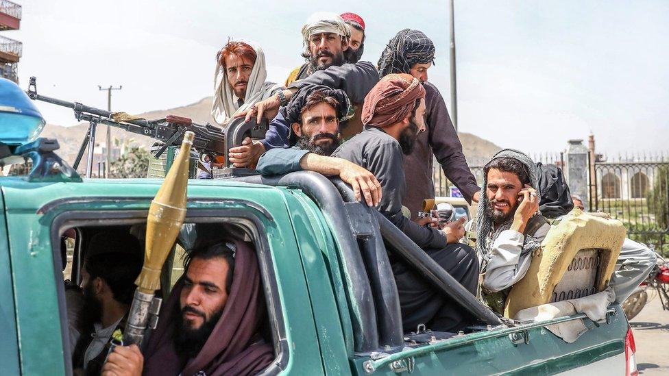
<path id="1" fill-rule="evenodd" d="M 258 334 L 265 300 L 258 261 L 245 242 L 188 253 L 184 276 L 162 307 L 145 355 L 115 347 L 103 374 L 255 375 L 274 358 Z"/>

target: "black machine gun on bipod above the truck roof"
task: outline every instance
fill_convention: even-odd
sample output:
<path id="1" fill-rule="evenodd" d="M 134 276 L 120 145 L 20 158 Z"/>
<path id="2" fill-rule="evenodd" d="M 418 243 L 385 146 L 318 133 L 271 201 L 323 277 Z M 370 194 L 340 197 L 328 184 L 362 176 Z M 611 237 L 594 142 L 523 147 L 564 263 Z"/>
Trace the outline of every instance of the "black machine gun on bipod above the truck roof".
<path id="1" fill-rule="evenodd" d="M 193 148 L 197 149 L 200 154 L 209 154 L 212 159 L 217 155 L 227 154 L 226 136 L 223 129 L 210 125 L 209 123 L 206 123 L 206 125 L 199 125 L 193 123 L 190 118 L 174 115 L 167 115 L 165 118 L 157 120 L 146 120 L 143 118 L 123 120 L 123 118 L 116 116 L 119 120 L 115 120 L 114 115 L 117 113 L 114 112 L 88 107 L 82 103 L 61 101 L 60 99 L 38 95 L 35 77 L 30 77 L 30 84 L 26 93 L 30 99 L 71 108 L 74 110 L 77 121 L 88 122 L 88 133 L 82 142 L 82 146 L 79 149 L 79 153 L 77 153 L 77 158 L 73 165 L 76 170 L 84 156 L 84 151 L 86 151 L 86 147 L 88 146 L 86 177 L 90 177 L 91 168 L 93 168 L 95 128 L 100 123 L 121 128 L 134 134 L 141 134 L 142 136 L 154 138 L 154 140 L 163 142 L 164 145 L 162 145 L 156 152 L 156 158 L 160 157 L 168 146 L 180 146 L 186 131 L 192 131 L 195 134 Z"/>

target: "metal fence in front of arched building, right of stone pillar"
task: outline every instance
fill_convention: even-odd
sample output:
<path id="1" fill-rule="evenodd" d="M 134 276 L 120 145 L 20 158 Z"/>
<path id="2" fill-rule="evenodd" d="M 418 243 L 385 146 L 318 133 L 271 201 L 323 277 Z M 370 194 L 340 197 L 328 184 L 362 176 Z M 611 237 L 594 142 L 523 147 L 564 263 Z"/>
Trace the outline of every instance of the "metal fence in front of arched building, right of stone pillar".
<path id="1" fill-rule="evenodd" d="M 595 162 L 590 210 L 609 213 L 629 238 L 669 254 L 669 162 L 635 159 L 642 161 Z"/>

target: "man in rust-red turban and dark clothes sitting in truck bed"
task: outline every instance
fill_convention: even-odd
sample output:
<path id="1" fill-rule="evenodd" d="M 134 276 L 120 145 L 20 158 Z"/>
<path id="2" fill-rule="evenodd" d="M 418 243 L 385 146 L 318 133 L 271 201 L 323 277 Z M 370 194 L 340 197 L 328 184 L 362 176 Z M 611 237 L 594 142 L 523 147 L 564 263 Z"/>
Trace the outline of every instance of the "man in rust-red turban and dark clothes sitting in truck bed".
<path id="1" fill-rule="evenodd" d="M 337 158 L 320 156 L 319 163 L 306 164 L 304 159 L 313 153 L 273 149 L 260 158 L 260 165 L 265 158 L 268 162 L 283 160 L 284 168 L 280 173 L 308 169 L 328 174 L 330 166 L 336 166 L 343 159 L 367 168 L 376 176 L 384 192 L 378 210 L 474 293 L 478 260 L 470 247 L 458 243 L 464 234 L 462 223 L 457 221 L 439 230 L 422 227 L 402 215 L 402 197 L 406 190 L 402 154 L 411 151 L 417 132 L 425 127 L 424 97 L 424 88 L 411 75 L 389 75 L 374 86 L 365 99 L 365 130 L 341 145 L 334 153 Z M 277 157 L 287 153 L 293 154 L 293 160 Z M 467 325 L 467 315 L 456 304 L 438 294 L 400 260 L 391 262 L 405 331 L 415 330 L 419 324 L 439 331 L 453 331 Z"/>

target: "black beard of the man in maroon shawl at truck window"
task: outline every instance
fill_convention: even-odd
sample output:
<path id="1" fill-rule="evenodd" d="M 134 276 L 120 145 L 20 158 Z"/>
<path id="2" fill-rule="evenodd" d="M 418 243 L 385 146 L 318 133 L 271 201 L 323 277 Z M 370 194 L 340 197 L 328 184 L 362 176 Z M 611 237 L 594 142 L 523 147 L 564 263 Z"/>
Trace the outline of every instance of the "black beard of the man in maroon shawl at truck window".
<path id="1" fill-rule="evenodd" d="M 204 318 L 204 323 L 202 323 L 202 325 L 200 325 L 200 327 L 197 329 L 188 327 L 184 318 L 184 313 L 186 312 L 199 314 L 202 316 L 202 318 Z M 174 336 L 174 347 L 177 353 L 182 355 L 184 359 L 195 358 L 199 351 L 202 350 L 202 347 L 204 347 L 205 342 L 207 342 L 207 339 L 214 330 L 216 323 L 219 322 L 222 314 L 223 308 L 221 308 L 221 310 L 218 312 L 215 312 L 207 320 L 204 312 L 196 310 L 190 305 L 186 305 L 186 307 L 181 310 L 181 320 L 177 321 L 177 327 Z"/>

